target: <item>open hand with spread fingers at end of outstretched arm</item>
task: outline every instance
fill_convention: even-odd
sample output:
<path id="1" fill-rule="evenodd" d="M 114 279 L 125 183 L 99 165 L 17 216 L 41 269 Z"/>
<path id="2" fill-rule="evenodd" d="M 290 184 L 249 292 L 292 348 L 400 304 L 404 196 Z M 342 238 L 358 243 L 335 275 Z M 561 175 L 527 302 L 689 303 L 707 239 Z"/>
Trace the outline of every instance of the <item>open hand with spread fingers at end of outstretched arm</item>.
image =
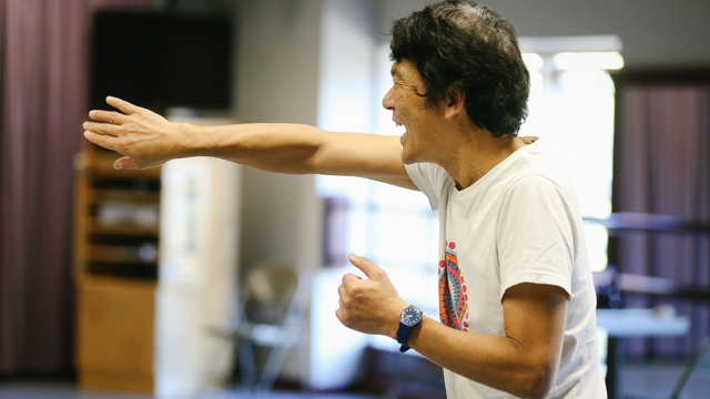
<path id="1" fill-rule="evenodd" d="M 84 122 L 84 137 L 102 147 L 123 155 L 113 163 L 115 168 L 145 168 L 180 157 L 180 124 L 128 101 L 109 96 L 109 105 L 120 112 L 91 111 L 89 117 L 108 123 Z"/>

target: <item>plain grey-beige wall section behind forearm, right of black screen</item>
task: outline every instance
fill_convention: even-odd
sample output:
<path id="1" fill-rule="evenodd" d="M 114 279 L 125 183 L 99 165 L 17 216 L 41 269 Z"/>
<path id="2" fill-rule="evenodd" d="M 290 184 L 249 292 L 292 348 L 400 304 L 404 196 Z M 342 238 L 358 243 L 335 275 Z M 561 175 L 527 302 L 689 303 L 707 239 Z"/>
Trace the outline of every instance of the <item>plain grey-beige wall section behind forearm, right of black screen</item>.
<path id="1" fill-rule="evenodd" d="M 320 0 L 242 1 L 237 8 L 236 119 L 317 122 Z M 241 265 L 268 259 L 315 269 L 321 202 L 314 176 L 243 174 Z"/>

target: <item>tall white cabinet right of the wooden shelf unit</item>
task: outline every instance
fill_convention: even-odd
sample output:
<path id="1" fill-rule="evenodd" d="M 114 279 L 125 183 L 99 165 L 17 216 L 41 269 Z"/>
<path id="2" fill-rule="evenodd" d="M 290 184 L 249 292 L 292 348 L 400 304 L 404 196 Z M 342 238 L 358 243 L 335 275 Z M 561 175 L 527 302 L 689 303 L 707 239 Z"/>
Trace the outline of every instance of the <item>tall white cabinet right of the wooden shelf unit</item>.
<path id="1" fill-rule="evenodd" d="M 161 181 L 153 375 L 156 398 L 180 399 L 229 377 L 233 364 L 233 342 L 210 329 L 236 305 L 241 166 L 174 160 Z"/>

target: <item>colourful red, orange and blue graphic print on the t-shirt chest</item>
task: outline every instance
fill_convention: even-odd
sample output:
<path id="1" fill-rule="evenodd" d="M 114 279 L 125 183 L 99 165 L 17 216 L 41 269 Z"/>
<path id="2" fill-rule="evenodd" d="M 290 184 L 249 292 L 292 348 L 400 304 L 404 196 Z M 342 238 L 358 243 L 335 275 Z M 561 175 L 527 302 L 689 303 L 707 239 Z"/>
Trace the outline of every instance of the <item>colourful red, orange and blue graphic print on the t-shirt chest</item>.
<path id="1" fill-rule="evenodd" d="M 468 331 L 468 290 L 458 267 L 456 243 L 446 241 L 446 257 L 439 262 L 439 317 L 446 326 Z"/>

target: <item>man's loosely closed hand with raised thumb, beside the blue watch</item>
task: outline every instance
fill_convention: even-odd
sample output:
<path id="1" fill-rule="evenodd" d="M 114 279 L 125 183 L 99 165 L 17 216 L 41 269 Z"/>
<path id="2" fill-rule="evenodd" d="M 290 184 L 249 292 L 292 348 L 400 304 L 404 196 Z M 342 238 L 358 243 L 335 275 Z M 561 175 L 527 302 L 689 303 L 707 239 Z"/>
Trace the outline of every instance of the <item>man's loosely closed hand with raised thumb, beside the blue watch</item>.
<path id="1" fill-rule="evenodd" d="M 345 327 L 397 339 L 399 314 L 407 304 L 399 298 L 385 270 L 366 257 L 351 254 L 348 259 L 368 278 L 343 276 L 343 285 L 338 287 L 341 307 L 335 316 Z"/>

